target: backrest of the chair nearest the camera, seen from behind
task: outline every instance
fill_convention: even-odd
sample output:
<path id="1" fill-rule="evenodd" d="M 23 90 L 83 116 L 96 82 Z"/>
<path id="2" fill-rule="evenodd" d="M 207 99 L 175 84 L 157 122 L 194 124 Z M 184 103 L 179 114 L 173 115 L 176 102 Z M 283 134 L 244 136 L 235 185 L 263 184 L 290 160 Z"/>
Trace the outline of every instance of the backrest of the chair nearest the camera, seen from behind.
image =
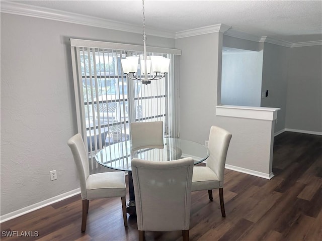
<path id="1" fill-rule="evenodd" d="M 188 230 L 193 159 L 132 159 L 138 230 Z"/>

